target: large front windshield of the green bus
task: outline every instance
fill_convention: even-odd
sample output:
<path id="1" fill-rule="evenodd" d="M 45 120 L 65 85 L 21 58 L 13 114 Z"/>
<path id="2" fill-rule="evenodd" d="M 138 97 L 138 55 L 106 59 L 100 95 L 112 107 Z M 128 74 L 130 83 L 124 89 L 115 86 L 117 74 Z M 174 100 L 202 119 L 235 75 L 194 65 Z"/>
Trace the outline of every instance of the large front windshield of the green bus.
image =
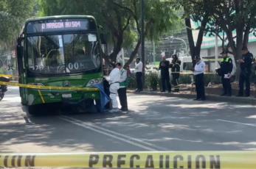
<path id="1" fill-rule="evenodd" d="M 78 73 L 100 68 L 100 44 L 94 34 L 27 37 L 32 73 Z"/>

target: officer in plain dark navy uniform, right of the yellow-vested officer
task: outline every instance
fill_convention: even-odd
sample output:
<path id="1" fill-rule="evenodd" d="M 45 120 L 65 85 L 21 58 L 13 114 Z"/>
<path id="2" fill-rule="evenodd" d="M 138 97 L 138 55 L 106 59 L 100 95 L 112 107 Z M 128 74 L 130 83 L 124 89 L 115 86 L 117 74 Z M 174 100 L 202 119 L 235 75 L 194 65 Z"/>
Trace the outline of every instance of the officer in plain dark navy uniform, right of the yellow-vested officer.
<path id="1" fill-rule="evenodd" d="M 247 47 L 242 49 L 242 59 L 238 60 L 240 63 L 241 73 L 239 76 L 239 93 L 238 96 L 243 96 L 243 84 L 246 84 L 245 96 L 250 96 L 250 76 L 252 73 L 253 55 L 248 51 Z"/>

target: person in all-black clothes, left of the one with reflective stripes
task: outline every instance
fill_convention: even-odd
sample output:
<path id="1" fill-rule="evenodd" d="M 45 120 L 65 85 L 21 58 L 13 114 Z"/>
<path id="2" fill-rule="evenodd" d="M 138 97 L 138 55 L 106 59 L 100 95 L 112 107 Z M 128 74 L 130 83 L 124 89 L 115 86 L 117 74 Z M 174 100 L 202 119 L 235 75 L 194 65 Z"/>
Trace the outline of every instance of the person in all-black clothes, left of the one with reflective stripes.
<path id="1" fill-rule="evenodd" d="M 171 92 L 171 86 L 170 86 L 170 62 L 165 59 L 165 52 L 162 52 L 162 61 L 159 64 L 159 70 L 161 70 L 161 82 L 162 82 L 162 90 L 161 92 L 165 92 L 166 90 L 166 84 L 167 84 L 167 90 L 168 93 Z"/>

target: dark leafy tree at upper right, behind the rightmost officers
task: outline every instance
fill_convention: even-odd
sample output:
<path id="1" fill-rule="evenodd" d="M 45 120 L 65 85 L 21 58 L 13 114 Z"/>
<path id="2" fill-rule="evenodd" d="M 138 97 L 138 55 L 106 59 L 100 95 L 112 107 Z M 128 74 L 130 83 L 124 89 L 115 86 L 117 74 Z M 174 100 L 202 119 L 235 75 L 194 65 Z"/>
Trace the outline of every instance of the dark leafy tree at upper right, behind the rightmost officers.
<path id="1" fill-rule="evenodd" d="M 241 57 L 243 46 L 248 45 L 249 33 L 256 26 L 256 1 L 209 0 L 204 3 L 211 15 L 209 31 L 212 31 L 214 24 L 219 26 L 219 30 L 226 33 L 229 47 L 232 48 L 235 59 L 238 59 Z"/>

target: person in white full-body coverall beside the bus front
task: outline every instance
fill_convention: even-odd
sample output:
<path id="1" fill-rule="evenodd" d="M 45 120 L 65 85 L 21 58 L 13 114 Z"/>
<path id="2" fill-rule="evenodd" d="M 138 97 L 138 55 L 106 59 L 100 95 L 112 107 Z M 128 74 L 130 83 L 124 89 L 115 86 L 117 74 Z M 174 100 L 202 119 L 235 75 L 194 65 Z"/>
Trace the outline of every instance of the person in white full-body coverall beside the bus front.
<path id="1" fill-rule="evenodd" d="M 121 63 L 117 62 L 116 68 L 114 68 L 108 77 L 105 79 L 108 81 L 110 87 L 110 95 L 112 109 L 109 112 L 118 112 L 118 103 L 117 103 L 117 90 L 120 88 L 120 69 L 122 68 Z"/>

